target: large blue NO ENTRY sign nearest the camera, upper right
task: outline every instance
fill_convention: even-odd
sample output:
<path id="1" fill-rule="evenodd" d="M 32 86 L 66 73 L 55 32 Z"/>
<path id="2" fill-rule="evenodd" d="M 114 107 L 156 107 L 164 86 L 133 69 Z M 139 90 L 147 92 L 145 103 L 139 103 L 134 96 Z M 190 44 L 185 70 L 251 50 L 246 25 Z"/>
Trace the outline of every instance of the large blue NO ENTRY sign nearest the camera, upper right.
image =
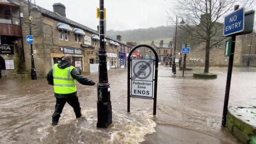
<path id="1" fill-rule="evenodd" d="M 245 25 L 245 9 L 244 7 L 232 12 L 224 18 L 223 35 L 229 36 L 231 34 L 242 32 Z"/>

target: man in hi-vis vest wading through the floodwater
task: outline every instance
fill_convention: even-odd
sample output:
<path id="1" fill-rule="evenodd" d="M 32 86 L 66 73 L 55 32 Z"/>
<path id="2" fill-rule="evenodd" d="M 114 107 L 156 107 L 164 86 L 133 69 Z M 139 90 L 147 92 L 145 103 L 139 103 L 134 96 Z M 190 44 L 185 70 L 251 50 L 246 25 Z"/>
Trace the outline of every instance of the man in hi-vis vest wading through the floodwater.
<path id="1" fill-rule="evenodd" d="M 95 82 L 80 75 L 72 64 L 72 57 L 65 55 L 61 62 L 53 65 L 48 72 L 48 84 L 53 85 L 54 96 L 56 97 L 55 111 L 53 113 L 52 125 L 59 122 L 60 114 L 66 102 L 74 108 L 75 117 L 82 116 L 80 103 L 76 95 L 75 80 L 82 85 L 95 85 Z"/>

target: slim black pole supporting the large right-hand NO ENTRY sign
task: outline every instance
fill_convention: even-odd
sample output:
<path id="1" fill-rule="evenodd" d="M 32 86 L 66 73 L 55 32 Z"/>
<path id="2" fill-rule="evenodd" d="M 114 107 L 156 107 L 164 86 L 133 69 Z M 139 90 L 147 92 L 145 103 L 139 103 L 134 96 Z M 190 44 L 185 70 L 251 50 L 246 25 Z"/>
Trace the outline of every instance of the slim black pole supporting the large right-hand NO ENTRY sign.
<path id="1" fill-rule="evenodd" d="M 239 5 L 235 5 L 235 10 L 239 8 Z M 229 90 L 231 84 L 231 76 L 232 76 L 232 68 L 233 68 L 233 60 L 234 60 L 234 52 L 235 52 L 235 35 L 232 35 L 232 43 L 231 43 L 231 52 L 229 56 L 229 67 L 228 67 L 228 75 L 227 75 L 227 83 L 226 83 L 226 91 L 225 91 L 225 99 L 224 99 L 224 107 L 222 114 L 222 126 L 226 126 L 228 106 L 229 106 Z"/>

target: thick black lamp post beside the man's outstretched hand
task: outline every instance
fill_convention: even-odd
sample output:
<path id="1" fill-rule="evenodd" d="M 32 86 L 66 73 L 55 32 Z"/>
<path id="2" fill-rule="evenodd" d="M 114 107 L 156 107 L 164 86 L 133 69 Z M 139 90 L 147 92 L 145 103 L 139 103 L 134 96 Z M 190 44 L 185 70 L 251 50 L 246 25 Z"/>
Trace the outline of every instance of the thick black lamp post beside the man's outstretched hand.
<path id="1" fill-rule="evenodd" d="M 107 76 L 107 52 L 104 41 L 104 0 L 100 0 L 100 49 L 99 49 L 99 83 L 97 85 L 97 128 L 107 128 L 112 123 L 112 106 L 110 86 Z"/>

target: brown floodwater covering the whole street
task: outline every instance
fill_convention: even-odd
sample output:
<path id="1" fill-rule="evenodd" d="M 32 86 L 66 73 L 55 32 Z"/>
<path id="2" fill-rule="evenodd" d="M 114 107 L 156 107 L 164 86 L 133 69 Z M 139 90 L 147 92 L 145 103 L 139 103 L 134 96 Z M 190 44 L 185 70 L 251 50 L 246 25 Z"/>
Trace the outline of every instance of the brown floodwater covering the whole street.
<path id="1" fill-rule="evenodd" d="M 227 68 L 214 67 L 214 80 L 200 80 L 192 72 L 176 75 L 160 66 L 157 115 L 153 100 L 131 98 L 127 113 L 127 69 L 109 70 L 112 125 L 96 128 L 96 86 L 77 84 L 85 118 L 77 120 L 72 107 L 65 105 L 59 125 L 51 126 L 55 98 L 53 86 L 45 79 L 0 79 L 1 144 L 239 144 L 221 128 Z M 255 105 L 256 69 L 234 68 L 229 105 Z M 85 74 L 98 81 L 98 74 Z"/>

